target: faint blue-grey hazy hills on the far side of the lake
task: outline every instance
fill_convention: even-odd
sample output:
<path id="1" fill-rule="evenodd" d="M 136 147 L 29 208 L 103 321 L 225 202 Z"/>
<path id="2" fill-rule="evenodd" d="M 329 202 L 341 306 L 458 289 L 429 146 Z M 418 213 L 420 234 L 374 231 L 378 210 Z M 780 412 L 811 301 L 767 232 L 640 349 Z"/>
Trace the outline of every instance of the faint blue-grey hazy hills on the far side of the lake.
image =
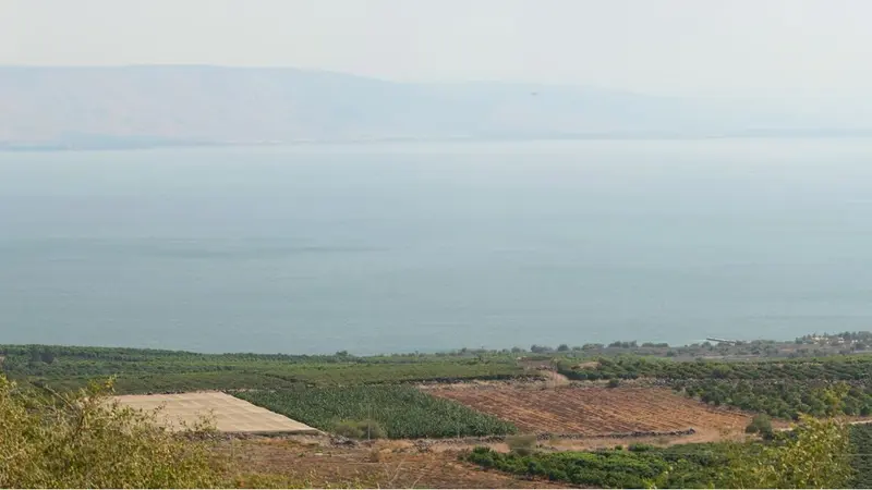
<path id="1" fill-rule="evenodd" d="M 199 65 L 0 66 L 0 110 L 3 149 L 872 134 L 845 111 L 827 120 L 750 101 Z"/>

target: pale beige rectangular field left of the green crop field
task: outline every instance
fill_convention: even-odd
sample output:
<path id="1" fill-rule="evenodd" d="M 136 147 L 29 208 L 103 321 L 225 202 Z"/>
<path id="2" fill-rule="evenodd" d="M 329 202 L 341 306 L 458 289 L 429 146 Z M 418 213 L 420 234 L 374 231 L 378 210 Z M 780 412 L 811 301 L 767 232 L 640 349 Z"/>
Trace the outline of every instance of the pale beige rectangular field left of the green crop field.
<path id="1" fill-rule="evenodd" d="M 210 416 L 220 432 L 320 433 L 317 429 L 221 392 L 116 396 L 123 405 L 146 412 L 162 406 L 158 422 L 179 427 Z"/>

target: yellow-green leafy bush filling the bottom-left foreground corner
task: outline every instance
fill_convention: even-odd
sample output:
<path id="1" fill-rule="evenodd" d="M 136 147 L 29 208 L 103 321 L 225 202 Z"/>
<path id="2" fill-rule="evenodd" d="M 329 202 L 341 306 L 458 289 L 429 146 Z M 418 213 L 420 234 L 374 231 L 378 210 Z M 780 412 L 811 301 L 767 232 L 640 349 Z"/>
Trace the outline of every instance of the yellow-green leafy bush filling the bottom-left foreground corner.
<path id="1" fill-rule="evenodd" d="M 0 488 L 209 488 L 222 467 L 209 445 L 110 402 L 111 382 L 73 394 L 0 375 Z"/>

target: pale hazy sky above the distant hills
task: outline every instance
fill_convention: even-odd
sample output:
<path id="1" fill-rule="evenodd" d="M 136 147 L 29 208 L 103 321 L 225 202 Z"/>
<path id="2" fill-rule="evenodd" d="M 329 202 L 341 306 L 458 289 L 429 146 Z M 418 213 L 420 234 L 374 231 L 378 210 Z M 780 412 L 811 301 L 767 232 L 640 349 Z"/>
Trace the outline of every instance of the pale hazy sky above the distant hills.
<path id="1" fill-rule="evenodd" d="M 0 64 L 869 95 L 871 0 L 0 0 Z"/>

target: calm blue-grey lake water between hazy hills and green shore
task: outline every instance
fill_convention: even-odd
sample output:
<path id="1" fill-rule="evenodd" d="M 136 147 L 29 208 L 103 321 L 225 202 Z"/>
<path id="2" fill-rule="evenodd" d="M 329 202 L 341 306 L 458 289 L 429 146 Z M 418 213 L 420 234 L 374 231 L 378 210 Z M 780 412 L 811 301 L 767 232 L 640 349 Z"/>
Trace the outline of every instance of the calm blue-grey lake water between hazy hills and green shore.
<path id="1" fill-rule="evenodd" d="M 872 329 L 872 140 L 0 154 L 0 343 L 437 351 Z"/>

